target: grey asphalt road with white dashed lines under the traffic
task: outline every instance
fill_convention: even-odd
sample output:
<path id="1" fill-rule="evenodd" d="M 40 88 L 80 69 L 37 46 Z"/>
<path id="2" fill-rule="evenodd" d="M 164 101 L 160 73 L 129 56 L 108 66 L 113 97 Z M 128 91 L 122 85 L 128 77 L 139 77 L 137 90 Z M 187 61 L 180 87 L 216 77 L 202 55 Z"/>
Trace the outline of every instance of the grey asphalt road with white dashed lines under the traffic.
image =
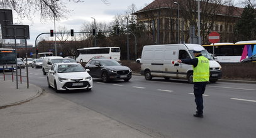
<path id="1" fill-rule="evenodd" d="M 55 93 L 47 87 L 42 69 L 29 68 L 29 76 L 30 83 Z M 203 119 L 192 116 L 196 111 L 192 87 L 185 81 L 147 81 L 133 75 L 130 82 L 103 83 L 94 78 L 91 92 L 55 94 L 155 137 L 255 137 L 255 84 L 209 83 Z"/>

